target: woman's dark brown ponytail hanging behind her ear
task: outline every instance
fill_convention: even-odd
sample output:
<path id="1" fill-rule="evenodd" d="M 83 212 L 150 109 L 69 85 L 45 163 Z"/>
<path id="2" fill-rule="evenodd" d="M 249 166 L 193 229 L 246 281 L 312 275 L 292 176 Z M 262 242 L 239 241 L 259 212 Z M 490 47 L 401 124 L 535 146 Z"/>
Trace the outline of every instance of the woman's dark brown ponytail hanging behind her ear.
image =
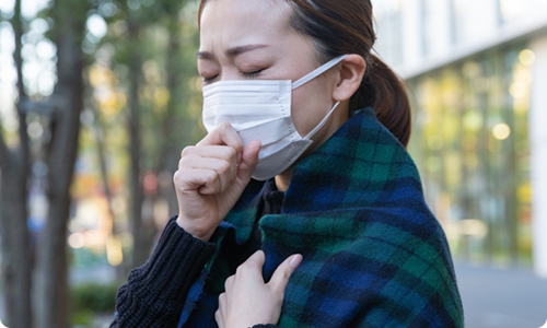
<path id="1" fill-rule="evenodd" d="M 407 147 L 411 114 L 406 83 L 374 55 L 371 55 L 369 66 L 361 86 L 350 101 L 350 115 L 359 108 L 374 108 L 380 122 Z"/>

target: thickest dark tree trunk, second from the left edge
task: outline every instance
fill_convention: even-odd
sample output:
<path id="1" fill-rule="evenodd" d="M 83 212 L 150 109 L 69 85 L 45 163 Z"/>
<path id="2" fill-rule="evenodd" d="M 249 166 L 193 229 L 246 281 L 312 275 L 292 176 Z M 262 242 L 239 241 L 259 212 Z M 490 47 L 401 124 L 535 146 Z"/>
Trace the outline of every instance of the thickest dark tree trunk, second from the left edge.
<path id="1" fill-rule="evenodd" d="M 40 328 L 69 327 L 67 225 L 83 107 L 80 40 L 86 20 L 86 10 L 70 2 L 56 2 L 58 82 L 54 97 L 58 108 L 48 156 L 49 211 L 38 248 L 36 274 L 36 327 Z"/>

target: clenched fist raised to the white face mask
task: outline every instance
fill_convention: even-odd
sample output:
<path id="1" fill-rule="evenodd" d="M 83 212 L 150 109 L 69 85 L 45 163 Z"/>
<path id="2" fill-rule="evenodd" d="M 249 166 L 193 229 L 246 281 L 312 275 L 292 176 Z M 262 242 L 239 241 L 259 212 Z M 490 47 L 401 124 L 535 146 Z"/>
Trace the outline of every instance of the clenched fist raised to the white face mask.
<path id="1" fill-rule="evenodd" d="M 173 177 L 178 225 L 209 241 L 251 181 L 260 147 L 254 140 L 244 150 L 235 129 L 222 122 L 198 144 L 185 148 Z"/>

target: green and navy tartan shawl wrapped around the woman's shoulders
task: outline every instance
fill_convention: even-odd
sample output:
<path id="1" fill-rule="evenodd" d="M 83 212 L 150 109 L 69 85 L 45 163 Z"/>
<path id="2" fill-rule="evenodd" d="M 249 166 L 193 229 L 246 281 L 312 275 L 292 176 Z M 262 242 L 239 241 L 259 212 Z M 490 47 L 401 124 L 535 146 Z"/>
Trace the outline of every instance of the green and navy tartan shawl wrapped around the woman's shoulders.
<path id="1" fill-rule="evenodd" d="M 234 273 L 223 245 L 252 237 L 264 185 L 252 180 L 216 231 L 218 250 L 178 327 L 217 327 L 218 296 Z M 281 214 L 258 225 L 265 281 L 287 257 L 304 257 L 287 286 L 280 327 L 464 326 L 444 232 L 410 155 L 372 108 L 295 166 Z"/>

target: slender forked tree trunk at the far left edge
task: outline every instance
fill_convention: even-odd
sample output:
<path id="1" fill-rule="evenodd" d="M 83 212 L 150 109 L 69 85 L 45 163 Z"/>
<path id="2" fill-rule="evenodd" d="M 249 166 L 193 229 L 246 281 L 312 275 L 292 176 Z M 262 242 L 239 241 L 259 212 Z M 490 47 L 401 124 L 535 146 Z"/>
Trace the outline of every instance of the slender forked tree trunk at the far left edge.
<path id="1" fill-rule="evenodd" d="M 0 136 L 0 233 L 2 234 L 2 284 L 4 286 L 5 324 L 10 328 L 32 327 L 31 312 L 31 247 L 27 219 L 26 187 L 28 178 L 28 134 L 26 115 L 21 104 L 26 95 L 23 87 L 21 58 L 23 28 L 21 0 L 15 1 L 12 19 L 15 36 L 13 60 L 18 72 L 20 147 L 10 152 Z M 1 133 L 0 128 L 0 133 Z"/>

